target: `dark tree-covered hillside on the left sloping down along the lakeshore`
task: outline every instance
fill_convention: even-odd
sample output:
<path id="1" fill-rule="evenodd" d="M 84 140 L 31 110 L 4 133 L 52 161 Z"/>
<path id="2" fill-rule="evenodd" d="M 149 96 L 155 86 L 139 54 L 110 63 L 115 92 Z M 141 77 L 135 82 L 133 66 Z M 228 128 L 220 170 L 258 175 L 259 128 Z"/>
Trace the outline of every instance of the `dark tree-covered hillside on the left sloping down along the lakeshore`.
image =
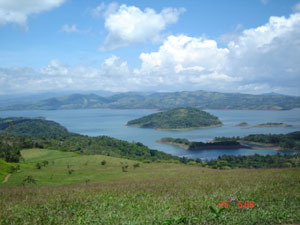
<path id="1" fill-rule="evenodd" d="M 12 121 L 10 122 L 12 125 L 7 125 L 5 130 L 3 125 L 3 135 L 0 136 L 0 158 L 7 162 L 18 162 L 21 156 L 20 150 L 26 148 L 58 149 L 81 154 L 102 154 L 137 160 L 179 159 L 176 156 L 150 149 L 139 142 L 129 143 L 107 136 L 89 137 L 69 133 L 61 125 L 48 120 L 9 118 L 3 119 L 3 121 L 7 121 L 6 124 L 9 123 L 8 121 Z M 37 127 L 43 129 L 36 133 Z M 7 132 L 7 130 L 10 131 Z"/>

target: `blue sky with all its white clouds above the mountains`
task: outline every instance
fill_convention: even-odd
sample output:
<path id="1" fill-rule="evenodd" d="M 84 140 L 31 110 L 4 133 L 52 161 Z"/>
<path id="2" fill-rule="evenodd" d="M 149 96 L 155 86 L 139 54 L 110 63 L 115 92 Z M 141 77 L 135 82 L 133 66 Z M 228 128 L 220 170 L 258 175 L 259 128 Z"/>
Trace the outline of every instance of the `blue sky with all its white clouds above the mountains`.
<path id="1" fill-rule="evenodd" d="M 0 95 L 299 87 L 299 0 L 0 0 Z"/>

